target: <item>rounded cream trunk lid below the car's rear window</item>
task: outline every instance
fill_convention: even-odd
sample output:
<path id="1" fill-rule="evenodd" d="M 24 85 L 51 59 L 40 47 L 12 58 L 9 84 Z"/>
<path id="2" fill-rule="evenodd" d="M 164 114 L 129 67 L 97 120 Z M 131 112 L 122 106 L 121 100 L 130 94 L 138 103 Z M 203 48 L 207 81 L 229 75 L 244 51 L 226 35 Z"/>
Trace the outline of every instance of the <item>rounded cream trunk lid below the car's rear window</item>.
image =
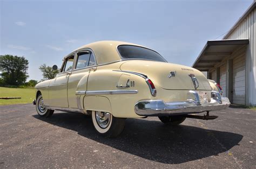
<path id="1" fill-rule="evenodd" d="M 146 75 L 155 85 L 172 90 L 212 90 L 204 74 L 197 69 L 166 62 L 130 60 L 120 66 L 121 71 L 130 71 Z M 170 77 L 171 72 L 174 73 Z M 198 88 L 194 87 L 190 74 L 198 81 Z M 192 75 L 192 76 L 193 76 Z"/>

